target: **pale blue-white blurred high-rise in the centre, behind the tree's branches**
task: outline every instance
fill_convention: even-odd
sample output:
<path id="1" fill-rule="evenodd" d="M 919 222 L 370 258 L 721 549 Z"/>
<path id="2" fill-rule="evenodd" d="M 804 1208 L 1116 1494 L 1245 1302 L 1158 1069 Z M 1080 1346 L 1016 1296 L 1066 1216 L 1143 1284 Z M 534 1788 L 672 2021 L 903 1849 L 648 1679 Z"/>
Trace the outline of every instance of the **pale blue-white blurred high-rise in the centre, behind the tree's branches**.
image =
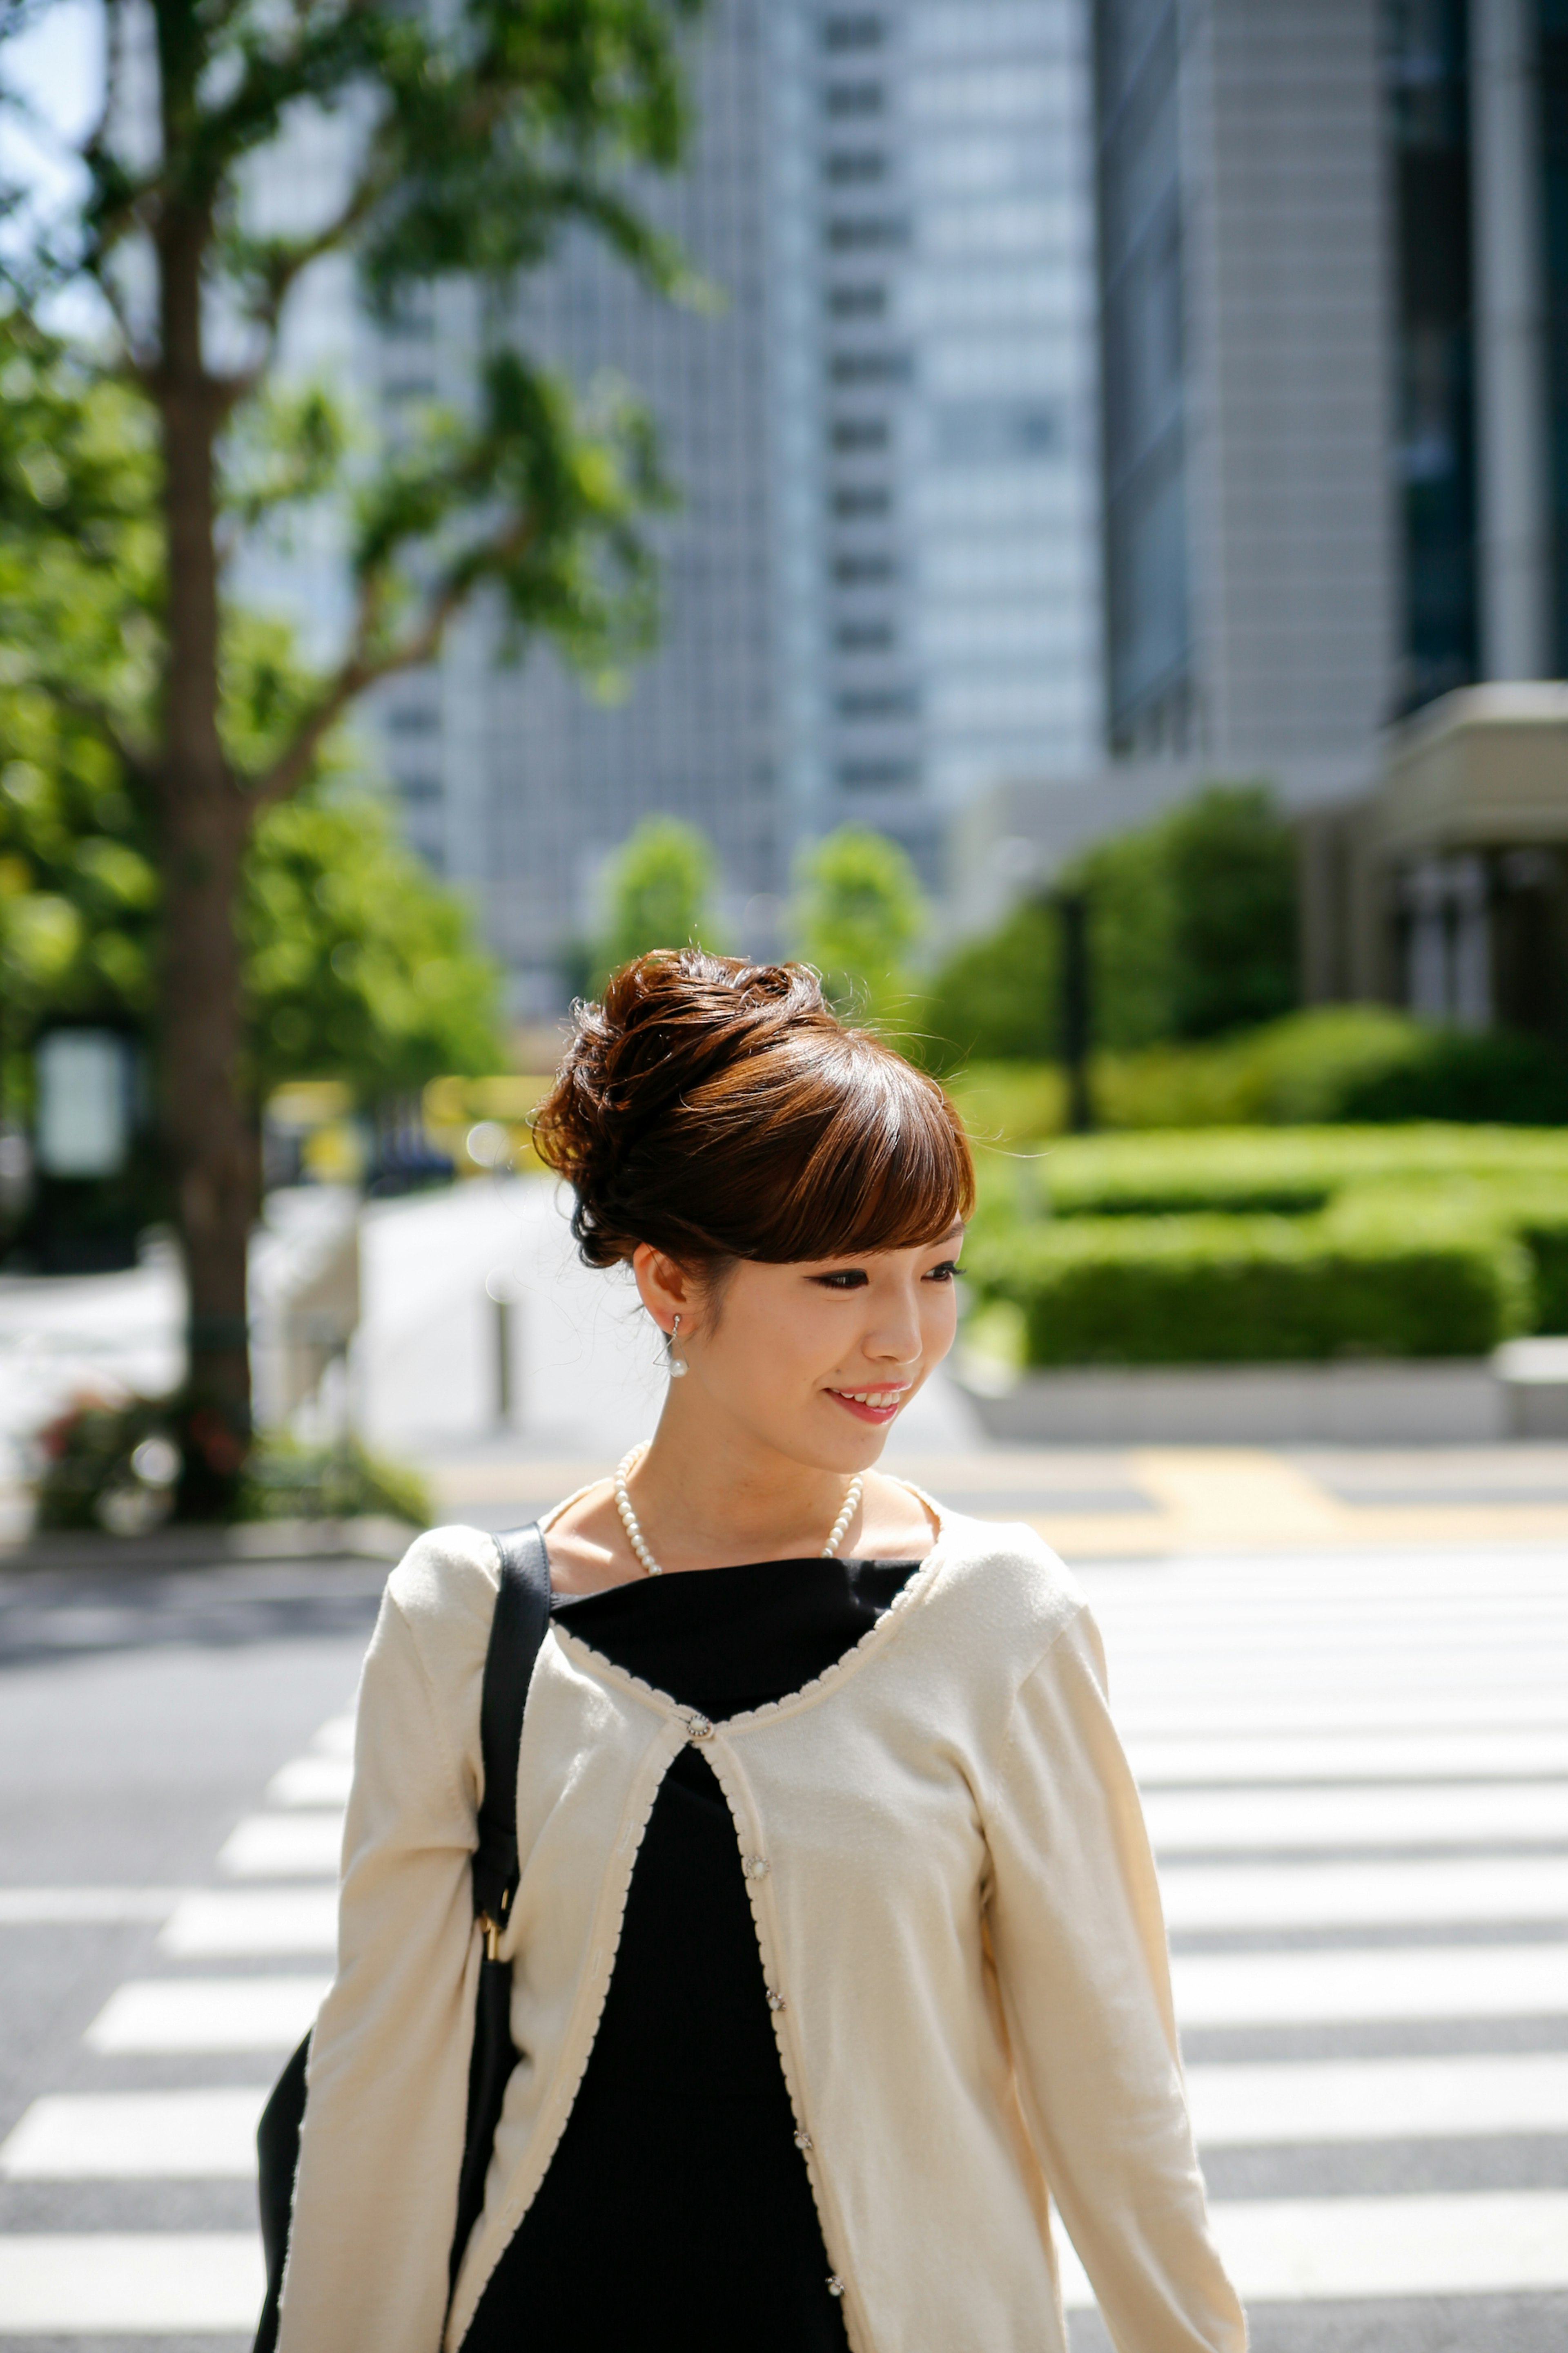
<path id="1" fill-rule="evenodd" d="M 658 419 L 658 649 L 604 704 L 475 612 L 371 708 L 520 1014 L 564 1000 L 651 812 L 712 835 L 731 939 L 771 951 L 804 842 L 872 824 L 940 889 L 957 805 L 1100 755 L 1088 0 L 715 0 L 691 80 L 689 165 L 649 202 L 719 308 L 571 235 L 501 329 Z M 440 287 L 355 334 L 362 391 L 388 421 L 463 398 L 477 344 Z"/>

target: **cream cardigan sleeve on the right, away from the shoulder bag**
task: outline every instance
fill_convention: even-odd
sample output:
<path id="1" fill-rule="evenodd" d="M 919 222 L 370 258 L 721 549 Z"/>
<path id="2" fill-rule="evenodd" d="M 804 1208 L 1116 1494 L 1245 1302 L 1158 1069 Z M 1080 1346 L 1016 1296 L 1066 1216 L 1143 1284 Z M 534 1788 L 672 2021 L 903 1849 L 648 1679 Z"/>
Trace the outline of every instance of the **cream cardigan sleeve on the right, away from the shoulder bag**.
<path id="1" fill-rule="evenodd" d="M 1154 1857 L 1079 1609 L 987 1802 L 990 1932 L 1030 2137 L 1117 2353 L 1244 2353 L 1182 2092 Z"/>

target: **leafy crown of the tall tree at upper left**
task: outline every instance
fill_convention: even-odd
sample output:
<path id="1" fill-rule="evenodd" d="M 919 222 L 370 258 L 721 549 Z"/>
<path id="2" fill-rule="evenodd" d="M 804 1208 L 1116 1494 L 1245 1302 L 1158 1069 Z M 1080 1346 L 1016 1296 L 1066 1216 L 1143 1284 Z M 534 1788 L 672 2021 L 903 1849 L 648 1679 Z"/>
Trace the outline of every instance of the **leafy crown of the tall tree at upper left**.
<path id="1" fill-rule="evenodd" d="M 5 38 L 38 14 L 5 12 L 0 68 Z M 209 414 L 228 416 L 219 464 L 228 529 L 287 532 L 322 499 L 348 515 L 353 645 L 294 699 L 289 725 L 280 713 L 254 762 L 230 744 L 242 784 L 287 793 L 303 781 L 324 725 L 376 675 L 425 659 L 482 584 L 520 631 L 545 631 L 592 675 L 649 645 L 644 525 L 670 494 L 651 419 L 623 384 L 602 376 L 574 388 L 491 339 L 461 409 L 404 409 L 376 435 L 369 419 L 350 431 L 320 386 L 280 386 L 270 365 L 289 294 L 327 254 L 353 256 L 383 318 L 409 315 L 458 275 L 503 294 L 515 318 L 515 273 L 548 261 L 571 231 L 599 238 L 646 285 L 693 299 L 679 252 L 642 209 L 637 174 L 679 160 L 679 33 L 696 14 L 698 0 L 458 0 L 435 14 L 313 0 L 284 12 L 263 0 L 193 12 L 183 0 L 153 0 L 162 136 L 148 160 L 115 141 L 82 148 L 80 209 L 12 273 L 7 334 L 42 353 L 47 336 L 33 320 L 82 278 L 108 296 L 106 315 L 125 320 L 127 252 L 146 254 L 165 289 L 195 254 L 207 299 L 249 329 L 261 358 L 254 376 L 207 379 Z M 129 71 L 125 42 L 110 42 L 108 66 L 115 85 Z M 127 104 L 141 101 L 110 87 L 110 118 Z M 353 122 L 343 202 L 308 228 L 261 228 L 244 181 L 301 108 Z M 0 188 L 0 200 L 9 193 Z M 122 412 L 148 459 L 134 501 L 146 628 L 129 654 L 155 675 L 169 612 L 158 574 L 174 541 L 150 459 L 158 431 L 188 433 L 181 400 L 193 386 L 176 381 L 174 355 L 158 348 L 158 301 L 141 308 L 143 322 L 125 327 L 120 348 L 82 344 L 71 365 L 82 388 Z M 59 353 L 45 379 L 56 362 Z M 188 365 L 181 348 L 179 367 Z M 16 367 L 5 379 L 16 431 L 12 461 L 0 452 L 0 529 L 26 529 L 49 565 L 80 579 L 108 560 L 115 532 L 125 539 L 115 466 L 94 473 L 92 442 L 56 431 L 47 381 L 28 386 Z M 80 619 L 71 600 L 61 612 L 68 638 L 94 633 L 92 600 Z M 21 642 L 31 675 L 59 671 L 54 652 Z M 148 678 L 129 701 L 155 774 L 162 715 Z"/>

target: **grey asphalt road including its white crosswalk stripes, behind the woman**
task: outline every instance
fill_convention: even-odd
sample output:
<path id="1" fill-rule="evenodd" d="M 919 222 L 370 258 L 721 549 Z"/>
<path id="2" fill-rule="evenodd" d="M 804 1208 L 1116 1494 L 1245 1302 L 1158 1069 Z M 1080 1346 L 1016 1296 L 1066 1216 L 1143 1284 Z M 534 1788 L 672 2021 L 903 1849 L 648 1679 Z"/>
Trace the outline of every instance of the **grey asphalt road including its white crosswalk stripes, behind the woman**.
<path id="1" fill-rule="evenodd" d="M 1086 1572 L 1260 2353 L 1568 2344 L 1563 1569 Z M 0 1586 L 5 2344 L 244 2344 L 247 2137 L 329 1965 L 378 1577 Z M 1110 2344 L 1086 2308 L 1072 2334 Z"/>

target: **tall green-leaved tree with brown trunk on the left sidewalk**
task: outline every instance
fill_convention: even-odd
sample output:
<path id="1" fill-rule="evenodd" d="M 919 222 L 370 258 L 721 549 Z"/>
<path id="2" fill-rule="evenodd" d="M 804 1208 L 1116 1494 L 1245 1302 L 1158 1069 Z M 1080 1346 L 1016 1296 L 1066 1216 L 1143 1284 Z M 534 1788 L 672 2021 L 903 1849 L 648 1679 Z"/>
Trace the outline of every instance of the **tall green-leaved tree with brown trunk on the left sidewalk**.
<path id="1" fill-rule="evenodd" d="M 0 40 L 47 5 L 5 0 Z M 280 673 L 273 701 L 254 706 L 261 725 L 237 732 L 226 555 L 343 478 L 329 407 L 275 391 L 284 308 L 331 254 L 355 259 L 383 313 L 454 273 L 501 292 L 574 226 L 675 289 L 677 256 L 628 186 L 679 158 L 677 33 L 693 12 L 696 0 L 103 0 L 110 87 L 80 148 L 82 198 L 12 271 L 21 320 L 59 315 L 66 287 L 96 296 L 99 329 L 75 365 L 134 405 L 155 478 L 143 626 L 120 664 L 87 689 L 66 638 L 28 647 L 28 675 L 118 751 L 150 819 L 160 1122 L 190 1379 L 240 1452 L 259 1176 L 237 927 L 252 828 L 306 786 L 353 701 L 430 661 L 480 591 L 590 671 L 635 654 L 654 619 L 639 520 L 663 494 L 649 421 L 625 393 L 578 398 L 496 332 L 463 414 L 404 419 L 355 454 L 350 640 L 322 675 Z M 343 186 L 310 226 L 268 228 L 249 202 L 256 160 L 310 113 L 357 141 Z M 0 188 L 0 202 L 24 200 Z M 49 565 L 87 584 L 113 569 L 125 518 L 92 445 L 28 442 L 0 501 L 0 532 L 35 560 L 47 546 Z"/>

